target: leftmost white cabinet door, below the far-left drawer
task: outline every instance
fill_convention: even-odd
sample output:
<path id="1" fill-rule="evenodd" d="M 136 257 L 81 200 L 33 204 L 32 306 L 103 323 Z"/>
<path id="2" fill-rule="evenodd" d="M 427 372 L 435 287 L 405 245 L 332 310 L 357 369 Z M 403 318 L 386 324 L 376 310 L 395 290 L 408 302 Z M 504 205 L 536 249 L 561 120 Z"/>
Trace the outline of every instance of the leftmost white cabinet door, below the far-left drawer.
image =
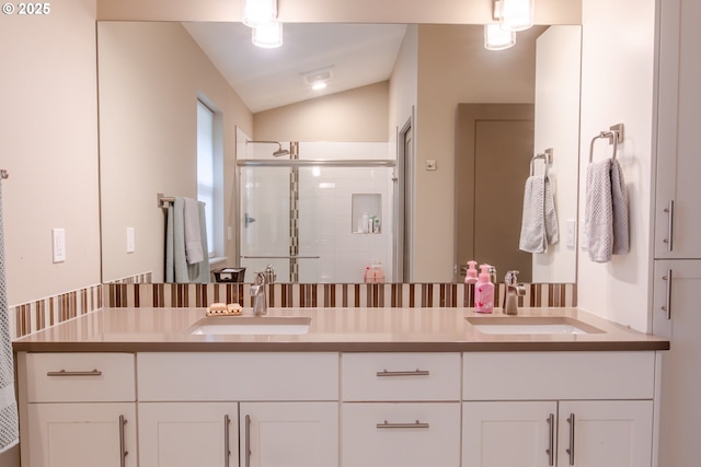
<path id="1" fill-rule="evenodd" d="M 28 467 L 137 465 L 134 404 L 30 404 L 27 418 Z"/>

